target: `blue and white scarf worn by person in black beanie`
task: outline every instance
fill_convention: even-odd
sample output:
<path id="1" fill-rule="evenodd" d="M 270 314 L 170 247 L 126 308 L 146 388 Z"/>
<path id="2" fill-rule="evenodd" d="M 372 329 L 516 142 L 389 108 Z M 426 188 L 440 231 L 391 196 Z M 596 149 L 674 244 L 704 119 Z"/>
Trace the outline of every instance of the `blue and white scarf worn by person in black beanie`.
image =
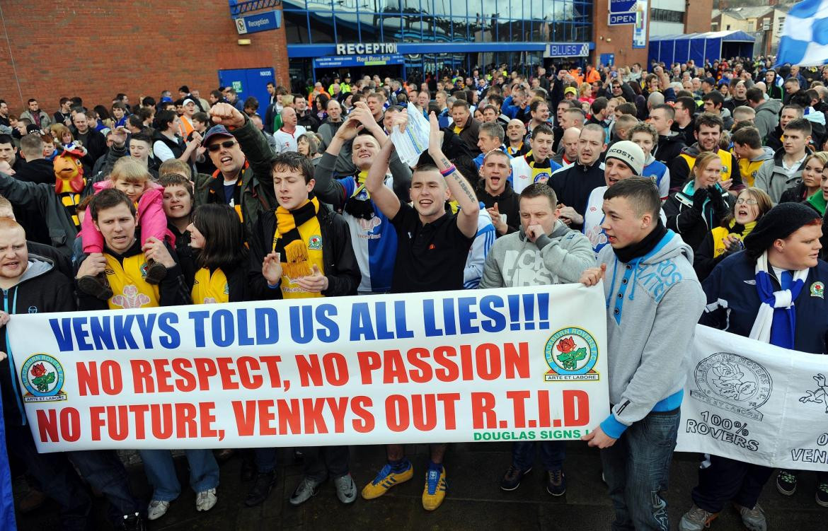
<path id="1" fill-rule="evenodd" d="M 793 301 L 797 300 L 808 270 L 802 269 L 793 273 L 792 281 L 787 289 L 773 290 L 773 278 L 768 268 L 768 252 L 762 253 L 756 261 L 756 290 L 762 306 L 753 321 L 750 338 L 770 343 L 777 347 L 793 348 L 794 334 L 797 330 L 797 311 Z M 784 273 L 790 273 L 785 271 Z M 783 274 L 784 275 L 784 274 Z M 787 282 L 779 279 L 779 285 Z"/>

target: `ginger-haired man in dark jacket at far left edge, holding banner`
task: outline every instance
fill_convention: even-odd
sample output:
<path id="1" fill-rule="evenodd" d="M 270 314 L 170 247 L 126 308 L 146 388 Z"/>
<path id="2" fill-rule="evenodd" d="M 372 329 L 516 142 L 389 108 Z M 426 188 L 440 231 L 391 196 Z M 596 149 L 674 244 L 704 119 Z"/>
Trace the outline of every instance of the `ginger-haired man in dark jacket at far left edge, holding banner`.
<path id="1" fill-rule="evenodd" d="M 70 280 L 48 259 L 28 253 L 26 232 L 10 218 L 0 218 L 0 288 L 7 295 L 0 311 L 0 341 L 7 349 L 9 313 L 31 313 L 31 309 L 41 313 L 75 310 Z M 10 303 L 11 306 L 7 305 Z M 11 358 L 0 361 L 6 447 L 10 455 L 26 465 L 36 488 L 60 505 L 60 529 L 88 529 L 92 500 L 72 465 L 89 485 L 107 496 L 109 519 L 116 529 L 146 529 L 140 505 L 129 487 L 127 471 L 115 452 L 37 452 L 17 392 L 16 372 Z"/>

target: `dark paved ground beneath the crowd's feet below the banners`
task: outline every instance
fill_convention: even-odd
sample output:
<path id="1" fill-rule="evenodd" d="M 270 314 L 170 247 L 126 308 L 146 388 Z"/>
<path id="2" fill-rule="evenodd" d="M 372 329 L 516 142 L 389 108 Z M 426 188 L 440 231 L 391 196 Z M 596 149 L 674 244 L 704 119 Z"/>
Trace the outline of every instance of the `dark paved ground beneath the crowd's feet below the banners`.
<path id="1" fill-rule="evenodd" d="M 231 459 L 222 465 L 219 503 L 209 513 L 195 510 L 195 494 L 185 489 L 170 511 L 152 522 L 152 531 L 265 531 L 271 529 L 545 529 L 566 531 L 609 529 L 612 507 L 600 480 L 597 452 L 582 443 L 569 443 L 566 458 L 568 490 L 561 498 L 546 494 L 543 473 L 537 469 L 527 476 L 518 490 L 503 492 L 498 481 L 509 459 L 508 443 L 455 444 L 446 457 L 448 462 L 449 495 L 434 513 L 422 509 L 420 497 L 422 473 L 426 463 L 426 447 L 407 448 L 415 465 L 415 476 L 378 500 L 359 498 L 354 505 L 343 506 L 336 500 L 330 482 L 319 495 L 305 505 L 292 507 L 287 499 L 301 477 L 301 465 L 280 453 L 277 486 L 270 499 L 259 507 L 243 507 L 247 486 L 238 479 L 239 461 Z M 354 479 L 361 488 L 373 478 L 383 464 L 380 447 L 353 447 L 351 466 Z M 186 484 L 185 462 L 179 460 L 179 476 Z M 152 494 L 140 468 L 132 469 L 137 494 Z M 828 509 L 814 502 L 815 476 L 803 474 L 800 488 L 791 498 L 778 495 L 773 483 L 763 492 L 761 505 L 768 514 L 768 529 L 828 529 Z M 696 456 L 676 454 L 672 466 L 672 485 L 668 495 L 670 517 L 675 528 L 681 514 L 690 506 L 690 490 L 696 485 Z M 94 529 L 109 529 L 105 505 L 95 505 Z M 36 514 L 18 518 L 21 531 L 57 529 L 55 507 L 47 504 Z M 744 529 L 732 509 L 723 512 L 711 529 L 723 531 Z"/>

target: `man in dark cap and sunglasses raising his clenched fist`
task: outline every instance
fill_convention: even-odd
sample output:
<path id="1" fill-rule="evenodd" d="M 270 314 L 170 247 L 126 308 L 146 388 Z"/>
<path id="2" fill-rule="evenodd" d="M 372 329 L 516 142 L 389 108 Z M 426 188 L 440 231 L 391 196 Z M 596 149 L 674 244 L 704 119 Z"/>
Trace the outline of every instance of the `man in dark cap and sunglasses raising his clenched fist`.
<path id="1" fill-rule="evenodd" d="M 224 203 L 235 208 L 246 237 L 262 212 L 276 206 L 271 165 L 273 152 L 248 117 L 229 103 L 209 111 L 213 122 L 202 146 L 218 170 L 195 175 L 195 206 Z"/>

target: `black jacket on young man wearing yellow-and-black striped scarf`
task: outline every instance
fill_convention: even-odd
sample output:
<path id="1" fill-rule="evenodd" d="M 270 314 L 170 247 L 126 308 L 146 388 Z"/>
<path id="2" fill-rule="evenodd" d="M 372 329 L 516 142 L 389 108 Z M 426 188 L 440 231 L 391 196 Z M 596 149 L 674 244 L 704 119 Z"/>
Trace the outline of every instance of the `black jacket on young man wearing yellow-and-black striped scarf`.
<path id="1" fill-rule="evenodd" d="M 322 231 L 322 260 L 325 262 L 325 276 L 328 277 L 328 289 L 322 294 L 325 297 L 357 294 L 362 275 L 354 247 L 351 246 L 348 223 L 323 205 L 320 205 L 316 218 Z M 258 217 L 250 238 L 248 285 L 252 299 L 282 299 L 282 289 L 267 287 L 267 280 L 262 276 L 262 262 L 272 250 L 276 223 L 276 208 L 271 208 Z"/>

